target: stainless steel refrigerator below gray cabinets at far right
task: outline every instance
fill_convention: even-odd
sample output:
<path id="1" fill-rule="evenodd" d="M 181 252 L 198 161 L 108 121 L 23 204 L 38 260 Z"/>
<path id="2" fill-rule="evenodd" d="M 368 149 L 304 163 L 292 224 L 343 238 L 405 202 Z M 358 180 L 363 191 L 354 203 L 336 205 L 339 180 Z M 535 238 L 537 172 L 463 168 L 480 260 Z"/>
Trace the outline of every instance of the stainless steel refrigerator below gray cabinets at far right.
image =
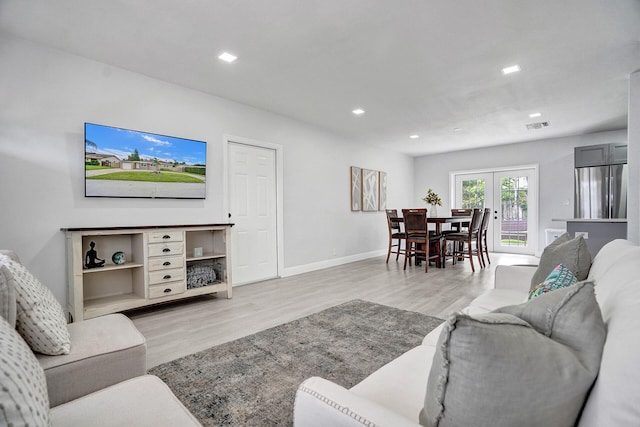
<path id="1" fill-rule="evenodd" d="M 626 164 L 575 168 L 575 218 L 627 217 Z"/>

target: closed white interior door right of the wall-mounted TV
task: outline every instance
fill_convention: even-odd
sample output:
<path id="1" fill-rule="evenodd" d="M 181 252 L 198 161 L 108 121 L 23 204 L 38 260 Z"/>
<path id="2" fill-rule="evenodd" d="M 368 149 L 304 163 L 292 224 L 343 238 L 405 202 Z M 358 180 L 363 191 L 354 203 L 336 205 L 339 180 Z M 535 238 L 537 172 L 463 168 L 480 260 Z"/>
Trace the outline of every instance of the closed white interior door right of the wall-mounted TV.
<path id="1" fill-rule="evenodd" d="M 233 284 L 277 277 L 275 150 L 229 143 L 228 159 Z"/>

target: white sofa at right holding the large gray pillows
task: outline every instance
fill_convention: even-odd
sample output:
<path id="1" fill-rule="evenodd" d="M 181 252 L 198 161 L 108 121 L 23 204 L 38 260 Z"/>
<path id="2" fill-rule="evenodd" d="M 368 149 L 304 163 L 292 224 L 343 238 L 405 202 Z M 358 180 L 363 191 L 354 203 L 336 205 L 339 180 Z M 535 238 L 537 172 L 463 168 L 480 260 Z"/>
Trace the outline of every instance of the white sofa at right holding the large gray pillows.
<path id="1" fill-rule="evenodd" d="M 522 304 L 527 299 L 530 281 L 535 271 L 536 268 L 531 266 L 498 266 L 495 288 L 476 298 L 464 312 L 472 317 L 483 316 L 484 313 L 500 307 Z M 597 302 L 594 302 L 595 310 L 593 311 L 597 312 L 599 306 L 602 316 L 600 317 L 597 313 L 596 315 L 606 325 L 606 338 L 603 332 L 604 345 L 600 344 L 602 353 L 599 374 L 593 388 L 586 395 L 586 401 L 581 413 L 578 414 L 576 425 L 584 427 L 640 425 L 640 363 L 638 363 L 640 361 L 640 277 L 638 272 L 640 272 L 640 247 L 626 240 L 615 240 L 607 244 L 593 260 L 587 280 L 595 285 L 588 285 L 592 286 L 591 289 L 595 289 Z M 591 297 L 593 298 L 593 291 L 591 291 Z M 425 407 L 429 374 L 434 356 L 438 352 L 437 346 L 442 345 L 439 343 L 439 338 L 445 324 L 427 335 L 422 345 L 409 350 L 373 372 L 351 389 L 347 390 L 319 377 L 307 379 L 297 391 L 294 424 L 305 427 L 420 425 L 420 413 Z M 584 333 L 583 328 L 576 328 L 576 334 L 578 332 Z M 597 338 L 594 337 L 595 339 Z M 595 366 L 597 370 L 598 364 Z M 515 375 L 513 381 L 519 380 L 519 376 Z M 567 385 L 572 381 L 572 378 L 565 379 Z M 486 394 L 489 399 L 494 391 L 495 389 L 478 385 L 478 394 Z M 464 402 L 462 404 L 464 405 Z M 531 406 L 535 406 L 535 400 L 502 409 L 501 414 L 494 415 L 497 415 L 499 420 L 513 419 L 525 407 L 530 409 Z M 473 418 L 475 414 L 470 415 Z M 443 423 L 442 425 L 451 424 Z M 478 414 L 473 425 L 483 426 L 487 423 Z M 492 421 L 490 425 L 507 425 L 507 423 Z M 536 423 L 521 420 L 517 425 L 536 425 Z M 560 425 L 560 423 L 552 421 L 547 422 L 547 425 Z"/>

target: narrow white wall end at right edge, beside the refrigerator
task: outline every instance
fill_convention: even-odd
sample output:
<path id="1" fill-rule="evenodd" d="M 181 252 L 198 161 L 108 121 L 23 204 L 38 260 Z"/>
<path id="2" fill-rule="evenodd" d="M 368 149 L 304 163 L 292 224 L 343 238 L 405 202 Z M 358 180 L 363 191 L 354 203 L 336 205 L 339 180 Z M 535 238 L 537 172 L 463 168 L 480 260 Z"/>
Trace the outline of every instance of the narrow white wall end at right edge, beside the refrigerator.
<path id="1" fill-rule="evenodd" d="M 640 245 L 640 70 L 629 76 L 629 228 L 627 236 Z"/>

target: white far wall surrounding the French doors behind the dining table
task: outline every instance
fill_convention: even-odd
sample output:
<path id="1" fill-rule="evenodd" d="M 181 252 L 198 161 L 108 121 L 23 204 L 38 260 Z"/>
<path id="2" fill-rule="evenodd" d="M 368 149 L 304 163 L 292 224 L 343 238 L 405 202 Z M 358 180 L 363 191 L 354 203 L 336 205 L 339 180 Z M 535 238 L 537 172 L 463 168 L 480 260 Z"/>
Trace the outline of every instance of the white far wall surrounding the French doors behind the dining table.
<path id="1" fill-rule="evenodd" d="M 626 140 L 626 130 L 620 130 L 418 157 L 414 165 L 416 192 L 413 204 L 423 205 L 421 199 L 427 187 L 431 187 L 442 197 L 443 209 L 449 210 L 451 171 L 538 164 L 539 252 L 545 245 L 545 228 L 566 227 L 566 223 L 552 219 L 573 218 L 573 148 Z M 638 197 L 637 193 L 635 197 Z M 629 201 L 633 199 L 633 195 L 630 195 Z"/>

